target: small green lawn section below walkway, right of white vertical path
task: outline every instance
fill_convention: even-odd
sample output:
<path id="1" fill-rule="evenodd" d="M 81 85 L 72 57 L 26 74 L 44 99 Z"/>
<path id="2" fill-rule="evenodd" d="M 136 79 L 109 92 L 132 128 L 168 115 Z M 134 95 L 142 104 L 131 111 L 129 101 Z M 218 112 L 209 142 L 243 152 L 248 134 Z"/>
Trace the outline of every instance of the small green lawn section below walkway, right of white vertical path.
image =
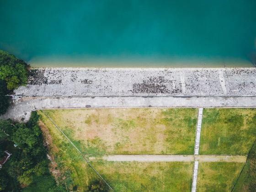
<path id="1" fill-rule="evenodd" d="M 197 192 L 230 192 L 244 163 L 200 162 Z"/>

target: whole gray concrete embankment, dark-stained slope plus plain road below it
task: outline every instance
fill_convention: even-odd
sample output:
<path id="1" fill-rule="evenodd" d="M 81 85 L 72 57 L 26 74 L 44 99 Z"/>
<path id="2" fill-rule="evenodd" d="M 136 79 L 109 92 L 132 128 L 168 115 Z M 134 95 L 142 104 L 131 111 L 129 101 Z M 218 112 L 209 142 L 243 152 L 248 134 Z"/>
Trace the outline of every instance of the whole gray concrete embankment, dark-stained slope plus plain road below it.
<path id="1" fill-rule="evenodd" d="M 86 107 L 256 107 L 256 68 L 35 68 L 1 119 Z M 16 96 L 22 98 L 16 99 Z"/>

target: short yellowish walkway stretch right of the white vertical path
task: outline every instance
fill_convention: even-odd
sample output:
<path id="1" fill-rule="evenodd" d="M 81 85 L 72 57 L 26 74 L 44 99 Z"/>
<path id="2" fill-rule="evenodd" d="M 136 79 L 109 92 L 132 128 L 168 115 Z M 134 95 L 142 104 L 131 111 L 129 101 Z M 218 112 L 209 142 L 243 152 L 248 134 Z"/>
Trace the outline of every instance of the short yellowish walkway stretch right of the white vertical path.
<path id="1" fill-rule="evenodd" d="M 247 155 L 195 155 L 196 161 L 203 162 L 240 162 L 246 161 Z"/>

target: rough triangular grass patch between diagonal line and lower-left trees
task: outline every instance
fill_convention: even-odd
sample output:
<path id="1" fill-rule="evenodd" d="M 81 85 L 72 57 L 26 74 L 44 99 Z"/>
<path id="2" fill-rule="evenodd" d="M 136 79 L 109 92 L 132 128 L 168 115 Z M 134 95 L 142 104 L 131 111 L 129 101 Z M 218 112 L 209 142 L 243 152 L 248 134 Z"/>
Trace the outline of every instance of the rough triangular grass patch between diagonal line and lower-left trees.
<path id="1" fill-rule="evenodd" d="M 97 178 L 95 172 L 48 117 L 40 111 L 38 114 L 41 115 L 39 125 L 51 157 L 51 174 L 59 184 L 66 186 L 67 191 L 88 191 L 88 183 Z"/>

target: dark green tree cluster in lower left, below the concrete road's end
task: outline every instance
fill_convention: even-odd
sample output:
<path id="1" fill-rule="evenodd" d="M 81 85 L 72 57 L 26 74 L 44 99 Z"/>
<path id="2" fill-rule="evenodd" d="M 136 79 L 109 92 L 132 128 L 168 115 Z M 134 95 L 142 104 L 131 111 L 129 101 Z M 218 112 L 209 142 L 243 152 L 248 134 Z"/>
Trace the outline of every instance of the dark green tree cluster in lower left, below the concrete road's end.
<path id="1" fill-rule="evenodd" d="M 27 123 L 16 123 L 11 119 L 0 120 L 0 131 L 8 134 L 5 134 L 4 141 L 10 143 L 9 148 L 13 148 L 14 143 L 18 144 L 13 149 L 15 151 L 10 151 L 11 158 L 1 170 L 6 179 L 0 182 L 0 188 L 4 189 L 12 182 L 16 183 L 16 190 L 13 187 L 9 189 L 14 191 L 20 191 L 21 185 L 25 186 L 22 191 L 28 192 L 64 191 L 62 186 L 57 186 L 49 173 L 47 149 L 43 146 L 43 134 L 37 123 L 38 118 L 37 112 L 32 112 Z"/>

